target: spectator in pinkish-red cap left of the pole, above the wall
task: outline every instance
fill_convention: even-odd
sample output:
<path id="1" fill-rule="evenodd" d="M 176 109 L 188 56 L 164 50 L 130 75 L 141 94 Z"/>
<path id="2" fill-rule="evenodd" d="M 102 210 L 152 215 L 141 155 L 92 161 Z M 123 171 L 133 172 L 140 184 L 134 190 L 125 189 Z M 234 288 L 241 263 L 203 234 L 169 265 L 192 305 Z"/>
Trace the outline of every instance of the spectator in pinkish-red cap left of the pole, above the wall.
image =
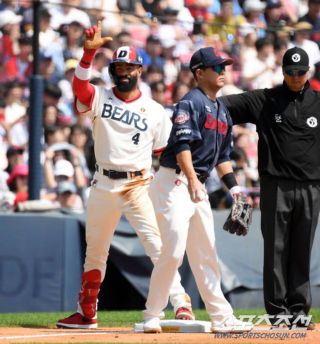
<path id="1" fill-rule="evenodd" d="M 28 174 L 28 165 L 19 164 L 14 167 L 9 175 L 7 184 L 9 190 L 16 194 L 15 204 L 28 199 Z"/>

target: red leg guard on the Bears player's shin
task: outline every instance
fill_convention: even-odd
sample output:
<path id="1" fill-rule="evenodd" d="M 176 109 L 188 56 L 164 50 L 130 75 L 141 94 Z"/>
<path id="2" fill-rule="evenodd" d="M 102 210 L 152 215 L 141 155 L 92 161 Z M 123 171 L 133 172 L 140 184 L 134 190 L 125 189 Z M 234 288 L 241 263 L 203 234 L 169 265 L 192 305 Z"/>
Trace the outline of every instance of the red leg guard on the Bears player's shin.
<path id="1" fill-rule="evenodd" d="M 92 319 L 95 316 L 97 297 L 101 285 L 101 272 L 90 270 L 82 273 L 81 291 L 79 292 L 79 304 L 83 315 Z"/>

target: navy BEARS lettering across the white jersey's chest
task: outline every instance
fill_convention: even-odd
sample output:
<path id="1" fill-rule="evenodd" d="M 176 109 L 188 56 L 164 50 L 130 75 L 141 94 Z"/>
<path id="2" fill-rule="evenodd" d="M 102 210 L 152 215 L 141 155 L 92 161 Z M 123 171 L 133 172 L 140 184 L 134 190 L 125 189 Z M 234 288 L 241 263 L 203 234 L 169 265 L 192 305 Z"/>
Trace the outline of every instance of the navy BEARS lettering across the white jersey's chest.
<path id="1" fill-rule="evenodd" d="M 117 106 L 113 108 L 111 104 L 103 105 L 101 117 L 110 118 L 114 121 L 125 123 L 128 126 L 133 125 L 136 129 L 140 131 L 145 131 L 148 128 L 146 118 L 141 118 L 141 116 L 138 113 L 130 113 L 129 110 L 124 110 Z"/>

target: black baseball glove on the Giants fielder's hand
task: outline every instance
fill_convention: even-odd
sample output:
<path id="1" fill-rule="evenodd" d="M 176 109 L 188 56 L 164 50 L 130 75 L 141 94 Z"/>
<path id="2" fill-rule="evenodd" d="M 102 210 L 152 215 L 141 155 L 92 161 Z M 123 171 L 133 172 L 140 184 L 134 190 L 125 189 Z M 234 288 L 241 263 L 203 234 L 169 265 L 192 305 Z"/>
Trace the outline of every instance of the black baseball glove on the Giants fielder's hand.
<path id="1" fill-rule="evenodd" d="M 231 234 L 247 235 L 252 221 L 252 205 L 242 192 L 232 195 L 232 209 L 223 229 Z"/>

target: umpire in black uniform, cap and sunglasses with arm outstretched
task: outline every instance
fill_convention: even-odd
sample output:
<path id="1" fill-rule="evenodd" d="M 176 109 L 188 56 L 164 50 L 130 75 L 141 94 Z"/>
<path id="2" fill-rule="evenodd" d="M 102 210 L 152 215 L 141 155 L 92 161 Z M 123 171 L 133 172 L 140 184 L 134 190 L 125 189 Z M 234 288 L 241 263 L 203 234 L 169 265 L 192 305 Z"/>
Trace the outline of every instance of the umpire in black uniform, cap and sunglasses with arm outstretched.
<path id="1" fill-rule="evenodd" d="M 259 135 L 264 298 L 272 324 L 292 315 L 304 325 L 311 307 L 311 248 L 320 210 L 320 92 L 308 82 L 309 57 L 301 48 L 283 57 L 284 83 L 272 89 L 220 97 L 233 124 L 253 123 Z M 298 319 L 297 319 L 298 318 Z"/>

